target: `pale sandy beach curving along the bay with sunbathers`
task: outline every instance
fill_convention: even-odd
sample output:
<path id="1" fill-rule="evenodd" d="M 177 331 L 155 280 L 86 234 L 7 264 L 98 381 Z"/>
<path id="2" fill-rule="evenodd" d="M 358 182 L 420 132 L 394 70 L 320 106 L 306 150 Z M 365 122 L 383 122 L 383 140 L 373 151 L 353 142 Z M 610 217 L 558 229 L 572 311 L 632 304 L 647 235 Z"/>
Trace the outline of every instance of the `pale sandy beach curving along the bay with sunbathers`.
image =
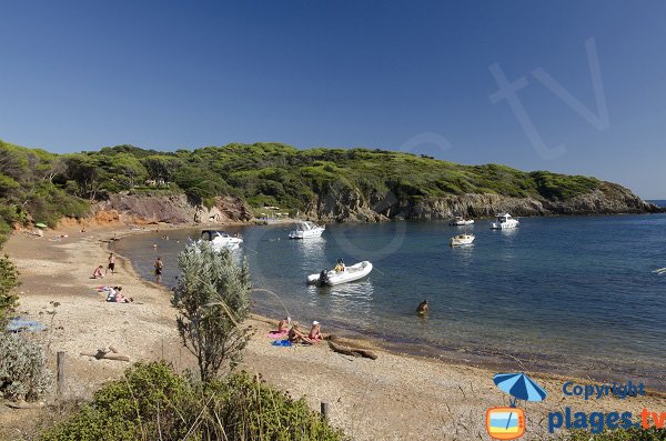
<path id="1" fill-rule="evenodd" d="M 21 272 L 20 315 L 48 327 L 33 338 L 48 345 L 53 365 L 56 353 L 65 352 L 67 398 L 89 398 L 95 388 L 118 378 L 129 365 L 82 357 L 83 351 L 113 345 L 132 362 L 164 358 L 176 370 L 192 365 L 175 330 L 168 290 L 140 279 L 122 258 L 118 259 L 117 274 L 90 279 L 93 268 L 107 262 L 108 241 L 114 234 L 128 233 L 137 232 L 119 225 L 88 232 L 72 225 L 48 231 L 43 238 L 17 232 L 2 250 Z M 68 237 L 60 237 L 64 234 Z M 104 302 L 104 295 L 95 289 L 101 284 L 122 285 L 123 293 L 134 298 L 134 303 Z M 395 354 L 379 348 L 373 348 L 376 360 L 352 358 L 331 351 L 323 342 L 278 348 L 266 337 L 273 323 L 255 317 L 251 324 L 256 333 L 245 351 L 243 369 L 261 374 L 293 397 L 305 398 L 314 410 L 327 402 L 332 423 L 354 440 L 486 440 L 486 410 L 508 402 L 492 381 L 495 372 L 480 367 Z M 322 325 L 325 332 L 325 321 Z M 547 438 L 548 413 L 565 407 L 586 412 L 632 411 L 635 415 L 644 408 L 666 411 L 666 399 L 660 393 L 586 401 L 564 395 L 564 378 L 538 373 L 533 377 L 547 390 L 548 398 L 523 405 L 526 440 Z M 1 407 L 0 439 L 20 439 L 27 429 L 26 415 L 39 420 L 39 412 L 43 410 Z"/>

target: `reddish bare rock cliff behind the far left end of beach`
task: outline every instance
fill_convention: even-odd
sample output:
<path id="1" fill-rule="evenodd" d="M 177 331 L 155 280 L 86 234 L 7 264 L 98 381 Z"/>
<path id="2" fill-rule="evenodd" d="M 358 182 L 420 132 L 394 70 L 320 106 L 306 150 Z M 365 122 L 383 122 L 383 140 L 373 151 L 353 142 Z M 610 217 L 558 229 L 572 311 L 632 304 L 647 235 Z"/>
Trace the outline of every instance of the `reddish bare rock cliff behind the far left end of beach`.
<path id="1" fill-rule="evenodd" d="M 211 208 L 193 203 L 184 194 L 113 194 L 93 207 L 95 219 L 125 223 L 223 223 L 246 222 L 250 208 L 239 198 L 225 196 Z"/>

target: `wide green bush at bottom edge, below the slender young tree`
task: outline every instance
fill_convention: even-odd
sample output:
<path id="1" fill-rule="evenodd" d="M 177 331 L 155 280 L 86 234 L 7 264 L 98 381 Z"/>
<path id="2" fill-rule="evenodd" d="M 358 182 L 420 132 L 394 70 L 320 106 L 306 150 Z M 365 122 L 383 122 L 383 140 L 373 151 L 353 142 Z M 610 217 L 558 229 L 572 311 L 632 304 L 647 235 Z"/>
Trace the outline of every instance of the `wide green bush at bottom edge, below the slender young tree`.
<path id="1" fill-rule="evenodd" d="M 196 383 L 164 362 L 135 364 L 42 434 L 63 440 L 343 440 L 303 400 L 245 372 Z"/>

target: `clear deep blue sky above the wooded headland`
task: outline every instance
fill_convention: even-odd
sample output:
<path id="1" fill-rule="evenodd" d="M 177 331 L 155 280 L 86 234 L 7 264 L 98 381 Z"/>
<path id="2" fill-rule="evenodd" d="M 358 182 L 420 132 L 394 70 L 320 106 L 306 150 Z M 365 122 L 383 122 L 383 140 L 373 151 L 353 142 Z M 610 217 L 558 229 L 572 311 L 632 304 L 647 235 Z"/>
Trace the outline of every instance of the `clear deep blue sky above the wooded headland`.
<path id="1" fill-rule="evenodd" d="M 6 1 L 0 17 L 8 142 L 403 149 L 666 198 L 666 2 Z M 495 63 L 523 117 L 491 100 Z"/>

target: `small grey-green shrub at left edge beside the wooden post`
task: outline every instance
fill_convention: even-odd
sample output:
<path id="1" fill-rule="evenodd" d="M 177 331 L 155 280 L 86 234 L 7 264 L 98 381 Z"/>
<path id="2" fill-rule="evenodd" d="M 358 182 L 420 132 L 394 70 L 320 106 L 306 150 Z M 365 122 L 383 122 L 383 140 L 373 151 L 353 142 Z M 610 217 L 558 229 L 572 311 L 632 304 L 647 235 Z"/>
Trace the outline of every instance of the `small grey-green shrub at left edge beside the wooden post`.
<path id="1" fill-rule="evenodd" d="M 53 383 L 42 348 L 20 334 L 0 333 L 0 397 L 34 401 Z"/>

